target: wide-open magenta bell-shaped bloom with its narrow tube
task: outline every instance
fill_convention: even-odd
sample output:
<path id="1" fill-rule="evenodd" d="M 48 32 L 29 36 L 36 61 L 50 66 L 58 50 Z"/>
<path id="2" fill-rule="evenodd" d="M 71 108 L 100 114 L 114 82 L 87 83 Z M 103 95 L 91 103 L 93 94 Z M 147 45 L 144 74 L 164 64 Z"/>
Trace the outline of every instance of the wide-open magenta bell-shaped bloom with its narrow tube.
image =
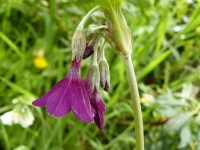
<path id="1" fill-rule="evenodd" d="M 74 59 L 68 75 L 32 104 L 46 106 L 48 113 L 56 117 L 63 117 L 72 111 L 81 121 L 93 122 L 95 110 L 80 79 L 80 61 Z"/>

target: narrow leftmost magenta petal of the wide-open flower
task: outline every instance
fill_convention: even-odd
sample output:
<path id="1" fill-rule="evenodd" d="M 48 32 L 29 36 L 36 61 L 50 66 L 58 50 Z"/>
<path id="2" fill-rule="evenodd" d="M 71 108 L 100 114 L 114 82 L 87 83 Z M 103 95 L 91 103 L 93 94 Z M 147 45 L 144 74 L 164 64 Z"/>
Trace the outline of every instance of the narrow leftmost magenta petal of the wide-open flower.
<path id="1" fill-rule="evenodd" d="M 35 106 L 45 106 L 49 95 L 51 95 L 57 88 L 59 88 L 59 86 L 63 84 L 65 79 L 66 77 L 59 81 L 56 85 L 54 85 L 53 88 L 51 88 L 45 95 L 33 101 L 32 104 Z"/>

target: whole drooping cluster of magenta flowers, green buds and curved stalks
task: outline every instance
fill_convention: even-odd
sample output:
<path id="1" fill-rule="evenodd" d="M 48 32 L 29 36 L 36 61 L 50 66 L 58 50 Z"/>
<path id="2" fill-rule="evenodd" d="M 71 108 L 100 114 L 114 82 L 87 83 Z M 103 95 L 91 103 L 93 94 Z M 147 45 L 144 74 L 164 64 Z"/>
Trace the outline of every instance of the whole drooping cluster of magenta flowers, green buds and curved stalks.
<path id="1" fill-rule="evenodd" d="M 100 96 L 99 85 L 101 82 L 105 91 L 108 91 L 110 86 L 109 67 L 104 57 L 104 46 L 102 47 L 105 42 L 101 32 L 108 29 L 104 22 L 106 19 L 103 12 L 100 11 L 98 15 L 93 16 L 97 24 L 90 26 L 91 28 L 87 30 L 88 34 L 85 33 L 84 28 L 86 20 L 99 8 L 97 6 L 89 11 L 74 32 L 72 64 L 68 75 L 32 104 L 45 106 L 47 112 L 56 117 L 63 117 L 72 111 L 81 121 L 95 122 L 98 128 L 103 130 L 105 103 Z M 101 21 L 98 21 L 99 17 Z M 88 43 L 86 43 L 87 40 Z M 80 78 L 80 62 L 90 56 L 90 69 L 87 77 L 82 80 Z"/>

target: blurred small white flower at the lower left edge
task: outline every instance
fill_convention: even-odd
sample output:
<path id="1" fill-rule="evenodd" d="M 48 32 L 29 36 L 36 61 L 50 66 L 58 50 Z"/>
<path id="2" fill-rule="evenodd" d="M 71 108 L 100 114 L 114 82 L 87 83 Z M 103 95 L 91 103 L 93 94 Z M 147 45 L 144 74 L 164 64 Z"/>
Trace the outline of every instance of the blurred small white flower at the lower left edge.
<path id="1" fill-rule="evenodd" d="M 20 124 L 27 128 L 34 122 L 34 116 L 28 106 L 17 105 L 13 110 L 0 116 L 0 120 L 5 125 Z"/>

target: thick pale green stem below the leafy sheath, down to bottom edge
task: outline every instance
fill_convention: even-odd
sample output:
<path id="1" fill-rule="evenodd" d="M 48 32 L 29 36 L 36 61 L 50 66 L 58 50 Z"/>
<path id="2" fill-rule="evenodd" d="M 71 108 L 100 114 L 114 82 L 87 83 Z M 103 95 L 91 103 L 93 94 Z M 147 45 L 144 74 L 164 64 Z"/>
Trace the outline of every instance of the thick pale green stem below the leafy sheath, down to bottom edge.
<path id="1" fill-rule="evenodd" d="M 122 58 L 126 69 L 126 75 L 132 99 L 132 108 L 135 121 L 136 149 L 144 150 L 142 111 L 134 67 L 131 55 L 129 55 L 128 57 L 122 56 Z"/>

